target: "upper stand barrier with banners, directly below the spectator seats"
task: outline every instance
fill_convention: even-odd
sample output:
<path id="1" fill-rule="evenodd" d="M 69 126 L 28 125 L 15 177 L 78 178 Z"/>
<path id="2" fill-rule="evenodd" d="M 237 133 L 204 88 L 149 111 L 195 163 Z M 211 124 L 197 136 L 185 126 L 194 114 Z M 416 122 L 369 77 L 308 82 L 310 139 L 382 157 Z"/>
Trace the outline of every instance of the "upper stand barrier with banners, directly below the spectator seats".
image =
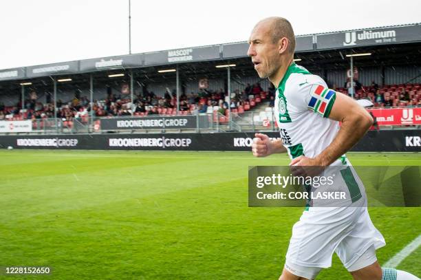
<path id="1" fill-rule="evenodd" d="M 368 109 L 378 125 L 385 127 L 421 125 L 421 107 Z M 206 114 L 118 116 L 75 118 L 40 118 L 35 120 L 0 121 L 2 134 L 80 134 L 80 133 L 166 133 L 166 132 L 247 132 L 277 131 L 274 111 Z"/>

